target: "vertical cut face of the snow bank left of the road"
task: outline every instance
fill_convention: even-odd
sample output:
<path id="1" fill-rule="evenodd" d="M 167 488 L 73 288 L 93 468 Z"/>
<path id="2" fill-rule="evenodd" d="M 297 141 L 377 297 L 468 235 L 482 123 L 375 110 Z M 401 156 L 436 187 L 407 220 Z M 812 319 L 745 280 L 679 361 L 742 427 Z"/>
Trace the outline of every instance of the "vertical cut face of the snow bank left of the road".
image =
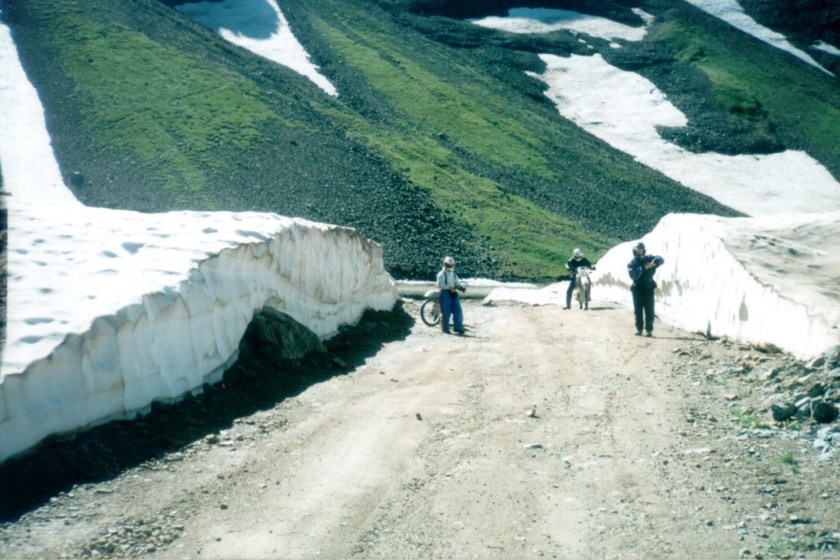
<path id="1" fill-rule="evenodd" d="M 322 339 L 392 309 L 382 248 L 350 228 L 294 221 L 200 262 L 177 286 L 96 318 L 0 381 L 0 461 L 44 438 L 132 418 L 221 379 L 263 306 Z"/>

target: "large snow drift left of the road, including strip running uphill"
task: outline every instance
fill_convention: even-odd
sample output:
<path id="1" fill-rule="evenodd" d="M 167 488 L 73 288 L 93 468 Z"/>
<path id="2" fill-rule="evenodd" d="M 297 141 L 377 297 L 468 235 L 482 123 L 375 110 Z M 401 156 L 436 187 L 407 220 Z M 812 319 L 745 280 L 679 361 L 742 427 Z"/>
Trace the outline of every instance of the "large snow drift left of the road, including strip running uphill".
<path id="1" fill-rule="evenodd" d="M 382 248 L 350 228 L 83 206 L 62 183 L 5 26 L 0 80 L 1 128 L 15 131 L 0 135 L 9 194 L 0 461 L 218 381 L 264 306 L 326 338 L 396 302 Z"/>

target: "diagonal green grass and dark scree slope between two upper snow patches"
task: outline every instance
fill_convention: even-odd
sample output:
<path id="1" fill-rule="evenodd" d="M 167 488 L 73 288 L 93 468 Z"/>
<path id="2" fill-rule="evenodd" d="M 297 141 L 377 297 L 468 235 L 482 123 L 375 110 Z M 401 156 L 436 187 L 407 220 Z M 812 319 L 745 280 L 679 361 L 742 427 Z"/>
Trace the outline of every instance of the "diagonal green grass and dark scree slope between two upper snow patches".
<path id="1" fill-rule="evenodd" d="M 637 234 L 629 216 L 655 223 L 659 214 L 649 200 L 681 191 L 581 134 L 546 101 L 523 99 L 499 84 L 473 52 L 421 34 L 394 41 L 413 29 L 370 6 L 285 5 L 294 14 L 304 4 L 312 28 L 307 35 L 317 34 L 322 48 L 331 48 L 333 58 L 373 88 L 375 104 L 388 108 L 365 127 L 349 123 L 346 129 L 495 250 L 513 255 L 520 275 L 538 276 L 547 263 L 559 272 L 571 245 L 600 250 Z M 524 77 L 520 68 L 510 71 Z M 690 193 L 683 198 L 695 199 L 693 206 L 685 203 L 693 209 L 712 206 Z"/>

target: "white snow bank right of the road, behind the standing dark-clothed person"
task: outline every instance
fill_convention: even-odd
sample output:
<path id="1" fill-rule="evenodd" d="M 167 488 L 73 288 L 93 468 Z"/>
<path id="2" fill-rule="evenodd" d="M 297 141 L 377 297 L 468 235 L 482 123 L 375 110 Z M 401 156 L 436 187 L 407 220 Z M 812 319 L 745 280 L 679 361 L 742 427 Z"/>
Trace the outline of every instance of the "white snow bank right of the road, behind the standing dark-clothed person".
<path id="1" fill-rule="evenodd" d="M 840 212 L 765 218 L 670 214 L 643 238 L 661 255 L 656 312 L 692 332 L 813 357 L 840 344 Z M 634 242 L 611 249 L 593 297 L 628 306 Z"/>

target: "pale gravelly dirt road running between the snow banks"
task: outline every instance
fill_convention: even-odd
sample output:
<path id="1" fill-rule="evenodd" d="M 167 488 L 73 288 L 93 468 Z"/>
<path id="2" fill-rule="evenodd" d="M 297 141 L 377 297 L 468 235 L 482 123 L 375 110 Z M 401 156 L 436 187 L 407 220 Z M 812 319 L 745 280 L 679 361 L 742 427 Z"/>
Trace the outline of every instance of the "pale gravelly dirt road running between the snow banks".
<path id="1" fill-rule="evenodd" d="M 4 524 L 0 556 L 840 555 L 836 456 L 745 421 L 747 374 L 783 357 L 636 337 L 597 301 L 465 304 L 469 336 L 348 348 L 346 374 Z"/>

